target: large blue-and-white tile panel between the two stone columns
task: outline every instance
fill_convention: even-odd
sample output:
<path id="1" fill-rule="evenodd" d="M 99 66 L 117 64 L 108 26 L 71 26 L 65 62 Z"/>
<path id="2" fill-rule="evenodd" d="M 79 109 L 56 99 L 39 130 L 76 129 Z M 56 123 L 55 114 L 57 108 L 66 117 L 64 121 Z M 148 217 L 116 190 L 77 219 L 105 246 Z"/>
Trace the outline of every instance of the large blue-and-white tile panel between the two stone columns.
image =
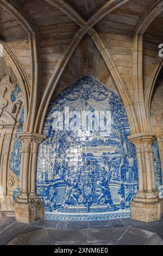
<path id="1" fill-rule="evenodd" d="M 138 188 L 137 162 L 119 96 L 83 76 L 51 101 L 43 134 L 47 139 L 39 147 L 36 187 L 47 218 L 129 216 Z"/>

